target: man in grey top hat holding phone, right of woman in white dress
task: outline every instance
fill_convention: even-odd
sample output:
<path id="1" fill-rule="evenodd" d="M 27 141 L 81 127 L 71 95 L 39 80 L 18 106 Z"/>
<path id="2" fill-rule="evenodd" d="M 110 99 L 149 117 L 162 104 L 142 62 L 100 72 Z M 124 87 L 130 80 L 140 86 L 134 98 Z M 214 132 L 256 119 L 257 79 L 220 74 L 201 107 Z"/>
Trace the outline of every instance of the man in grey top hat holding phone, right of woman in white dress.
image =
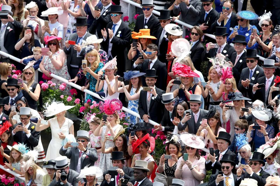
<path id="1" fill-rule="evenodd" d="M 72 144 L 72 141 L 67 141 L 67 143 L 60 148 L 59 153 L 70 159 L 70 169 L 80 173 L 81 169 L 85 166 L 93 166 L 98 159 L 98 155 L 95 148 L 87 147 L 90 142 L 88 131 L 78 130 L 75 139 L 78 142 L 77 146 Z"/>

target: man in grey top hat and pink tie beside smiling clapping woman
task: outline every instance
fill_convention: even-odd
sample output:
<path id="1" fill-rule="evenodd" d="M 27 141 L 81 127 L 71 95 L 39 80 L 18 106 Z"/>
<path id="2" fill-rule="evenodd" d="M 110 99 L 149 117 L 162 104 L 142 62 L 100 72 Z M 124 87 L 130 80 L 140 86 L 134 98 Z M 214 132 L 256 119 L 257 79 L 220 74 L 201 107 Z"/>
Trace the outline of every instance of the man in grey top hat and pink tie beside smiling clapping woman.
<path id="1" fill-rule="evenodd" d="M 190 95 L 190 109 L 184 112 L 183 119 L 178 123 L 177 127 L 179 131 L 184 130 L 188 126 L 188 133 L 196 134 L 200 126 L 200 121 L 204 119 L 204 116 L 208 113 L 208 110 L 200 109 L 201 95 Z M 186 114 L 189 112 L 190 114 Z"/>

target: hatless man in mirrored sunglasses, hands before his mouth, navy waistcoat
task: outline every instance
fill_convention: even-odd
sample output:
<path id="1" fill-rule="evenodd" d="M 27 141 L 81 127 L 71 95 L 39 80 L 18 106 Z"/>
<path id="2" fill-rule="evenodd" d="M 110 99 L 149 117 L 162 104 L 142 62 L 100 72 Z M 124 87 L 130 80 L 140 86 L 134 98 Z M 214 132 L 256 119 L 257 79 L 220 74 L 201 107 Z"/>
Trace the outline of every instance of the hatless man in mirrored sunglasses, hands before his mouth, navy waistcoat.
<path id="1" fill-rule="evenodd" d="M 227 28 L 227 34 L 230 34 L 230 28 L 234 28 L 234 26 L 238 25 L 237 15 L 232 12 L 233 3 L 231 0 L 225 0 L 223 2 L 223 12 L 218 15 L 218 20 L 212 24 L 212 28 L 223 26 Z"/>

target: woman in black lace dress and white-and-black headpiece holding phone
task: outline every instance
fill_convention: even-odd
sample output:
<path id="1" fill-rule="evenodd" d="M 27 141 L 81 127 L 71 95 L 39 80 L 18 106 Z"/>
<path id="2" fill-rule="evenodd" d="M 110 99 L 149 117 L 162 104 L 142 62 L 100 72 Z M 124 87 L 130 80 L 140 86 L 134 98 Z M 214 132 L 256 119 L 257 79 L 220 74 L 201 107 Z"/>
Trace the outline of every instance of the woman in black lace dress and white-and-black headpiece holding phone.
<path id="1" fill-rule="evenodd" d="M 167 144 L 166 155 L 171 155 L 171 159 L 164 159 L 163 154 L 160 157 L 160 163 L 157 167 L 159 173 L 164 172 L 167 176 L 167 185 L 172 185 L 172 179 L 175 178 L 175 170 L 177 167 L 178 158 L 181 157 L 181 145 L 178 142 L 178 137 L 176 135 L 168 134 L 165 140 Z M 163 173 L 162 173 L 163 174 Z"/>

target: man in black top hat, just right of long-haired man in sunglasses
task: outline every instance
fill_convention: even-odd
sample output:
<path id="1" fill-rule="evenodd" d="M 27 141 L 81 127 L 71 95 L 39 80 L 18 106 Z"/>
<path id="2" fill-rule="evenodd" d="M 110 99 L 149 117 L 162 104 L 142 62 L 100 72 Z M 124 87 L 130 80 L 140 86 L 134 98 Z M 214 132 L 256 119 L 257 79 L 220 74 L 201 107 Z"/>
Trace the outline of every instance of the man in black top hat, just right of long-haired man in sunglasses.
<path id="1" fill-rule="evenodd" d="M 208 61 L 208 66 L 206 72 L 209 71 L 212 63 L 208 58 L 216 57 L 217 54 L 223 54 L 228 59 L 231 58 L 234 48 L 227 44 L 227 28 L 226 27 L 216 27 L 216 32 L 213 33 L 216 37 L 216 42 L 218 47 L 214 43 L 209 42 L 207 48 L 202 53 L 202 61 Z"/>

